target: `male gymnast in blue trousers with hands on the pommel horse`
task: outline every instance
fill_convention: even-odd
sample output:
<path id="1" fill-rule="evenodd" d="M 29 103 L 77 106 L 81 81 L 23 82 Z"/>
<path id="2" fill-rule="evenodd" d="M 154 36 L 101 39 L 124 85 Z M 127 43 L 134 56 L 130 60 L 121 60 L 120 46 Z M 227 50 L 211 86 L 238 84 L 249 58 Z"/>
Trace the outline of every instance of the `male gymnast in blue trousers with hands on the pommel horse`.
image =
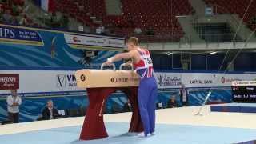
<path id="1" fill-rule="evenodd" d="M 106 65 L 122 59 L 132 59 L 134 70 L 140 76 L 138 86 L 138 106 L 144 127 L 144 136 L 154 135 L 155 101 L 158 96 L 158 86 L 154 78 L 153 62 L 149 50 L 138 46 L 138 38 L 131 37 L 126 41 L 128 52 L 116 54 L 107 58 Z"/>

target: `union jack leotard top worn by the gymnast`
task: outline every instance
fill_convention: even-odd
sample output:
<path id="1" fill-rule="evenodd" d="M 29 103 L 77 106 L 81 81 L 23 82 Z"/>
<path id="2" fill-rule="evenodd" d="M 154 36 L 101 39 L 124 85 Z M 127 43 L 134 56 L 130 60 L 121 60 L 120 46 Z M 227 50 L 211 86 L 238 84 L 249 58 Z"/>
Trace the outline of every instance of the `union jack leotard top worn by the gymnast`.
<path id="1" fill-rule="evenodd" d="M 140 54 L 141 59 L 138 63 L 134 64 L 134 70 L 141 78 L 153 77 L 153 62 L 149 50 L 138 49 L 138 53 Z"/>

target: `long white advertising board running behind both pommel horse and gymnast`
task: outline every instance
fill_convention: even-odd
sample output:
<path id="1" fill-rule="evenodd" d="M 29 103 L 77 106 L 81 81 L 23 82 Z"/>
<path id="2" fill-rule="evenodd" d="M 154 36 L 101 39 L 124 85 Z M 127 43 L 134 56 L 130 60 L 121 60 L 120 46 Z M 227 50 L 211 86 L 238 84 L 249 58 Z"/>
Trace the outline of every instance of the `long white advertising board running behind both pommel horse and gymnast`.
<path id="1" fill-rule="evenodd" d="M 1 70 L 1 74 L 18 74 L 18 93 L 51 93 L 81 91 L 77 87 L 73 70 Z M 184 84 L 189 88 L 231 88 L 232 81 L 253 80 L 256 74 L 212 74 L 212 73 L 156 73 L 158 89 L 175 89 Z M 0 94 L 10 93 L 1 90 Z"/>

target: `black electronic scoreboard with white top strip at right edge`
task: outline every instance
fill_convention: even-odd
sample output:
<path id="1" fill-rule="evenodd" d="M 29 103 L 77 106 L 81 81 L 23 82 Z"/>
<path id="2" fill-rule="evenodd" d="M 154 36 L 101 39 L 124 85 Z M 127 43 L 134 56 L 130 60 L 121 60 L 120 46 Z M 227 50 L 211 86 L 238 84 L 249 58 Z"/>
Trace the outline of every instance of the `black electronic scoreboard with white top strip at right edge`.
<path id="1" fill-rule="evenodd" d="M 234 102 L 256 103 L 256 81 L 234 81 L 231 88 Z"/>

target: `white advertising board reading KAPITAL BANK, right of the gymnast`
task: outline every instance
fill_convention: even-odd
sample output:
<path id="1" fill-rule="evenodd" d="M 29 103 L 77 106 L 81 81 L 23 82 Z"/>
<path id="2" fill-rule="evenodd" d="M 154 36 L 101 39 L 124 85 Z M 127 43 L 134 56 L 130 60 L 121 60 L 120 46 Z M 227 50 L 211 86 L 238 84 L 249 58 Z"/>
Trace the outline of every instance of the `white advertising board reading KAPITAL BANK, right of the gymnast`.
<path id="1" fill-rule="evenodd" d="M 217 73 L 156 73 L 158 88 L 219 87 L 231 86 L 233 81 L 250 81 L 256 74 L 217 74 Z"/>

